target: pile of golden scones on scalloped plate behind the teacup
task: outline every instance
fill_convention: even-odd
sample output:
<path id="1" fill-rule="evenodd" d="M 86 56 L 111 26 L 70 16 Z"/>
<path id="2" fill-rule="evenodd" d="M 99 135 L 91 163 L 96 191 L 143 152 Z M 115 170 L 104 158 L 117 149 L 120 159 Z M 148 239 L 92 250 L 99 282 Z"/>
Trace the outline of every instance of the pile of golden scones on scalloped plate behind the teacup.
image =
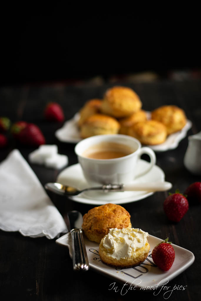
<path id="1" fill-rule="evenodd" d="M 91 99 L 80 110 L 78 127 L 81 138 L 102 134 L 124 134 L 142 144 L 161 144 L 167 136 L 180 131 L 187 118 L 182 109 L 165 105 L 151 112 L 142 108 L 139 96 L 128 87 L 109 88 L 100 99 Z"/>

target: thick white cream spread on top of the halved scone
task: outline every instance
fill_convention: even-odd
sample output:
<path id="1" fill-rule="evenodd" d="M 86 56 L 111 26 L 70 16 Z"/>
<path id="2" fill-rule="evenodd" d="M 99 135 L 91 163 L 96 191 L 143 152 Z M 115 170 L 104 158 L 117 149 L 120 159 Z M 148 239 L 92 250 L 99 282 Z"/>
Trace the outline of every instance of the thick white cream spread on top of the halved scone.
<path id="1" fill-rule="evenodd" d="M 138 228 L 112 228 L 103 238 L 103 247 L 113 258 L 131 257 L 132 250 L 135 252 L 145 246 L 147 236 L 149 236 L 147 232 Z"/>

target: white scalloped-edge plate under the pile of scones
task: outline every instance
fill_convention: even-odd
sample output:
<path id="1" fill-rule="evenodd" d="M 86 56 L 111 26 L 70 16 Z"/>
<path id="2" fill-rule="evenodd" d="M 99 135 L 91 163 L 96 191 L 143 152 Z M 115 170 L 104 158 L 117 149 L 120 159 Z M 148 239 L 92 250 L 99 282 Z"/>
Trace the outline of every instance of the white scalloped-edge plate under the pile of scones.
<path id="1" fill-rule="evenodd" d="M 150 112 L 147 113 L 147 118 L 150 119 Z M 77 126 L 77 122 L 79 120 L 79 113 L 75 114 L 75 116 L 66 121 L 64 125 L 55 132 L 55 136 L 59 141 L 69 142 L 69 143 L 77 143 L 80 140 L 80 132 Z M 187 120 L 186 125 L 176 133 L 173 133 L 168 136 L 164 143 L 158 145 L 148 145 L 152 150 L 160 152 L 160 151 L 168 151 L 170 149 L 174 149 L 178 146 L 179 142 L 187 135 L 187 131 L 192 127 L 192 122 Z"/>

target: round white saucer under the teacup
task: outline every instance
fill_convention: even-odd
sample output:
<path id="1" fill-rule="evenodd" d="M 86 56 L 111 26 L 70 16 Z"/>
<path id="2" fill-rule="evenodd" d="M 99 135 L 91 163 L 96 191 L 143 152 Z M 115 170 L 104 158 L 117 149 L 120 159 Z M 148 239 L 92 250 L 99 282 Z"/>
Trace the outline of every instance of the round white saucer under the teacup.
<path id="1" fill-rule="evenodd" d="M 136 175 L 147 168 L 149 163 L 145 160 L 139 160 L 136 166 Z M 81 166 L 79 163 L 65 168 L 57 177 L 58 183 L 64 185 L 71 185 L 77 189 L 84 189 L 90 187 L 86 182 Z M 163 170 L 154 165 L 153 168 L 146 174 L 135 180 L 135 182 L 157 182 L 165 181 L 165 174 Z M 79 203 L 90 205 L 103 205 L 105 203 L 125 204 L 142 200 L 153 192 L 147 191 L 124 191 L 124 192 L 102 192 L 102 191 L 86 191 L 78 196 L 69 197 L 70 199 Z"/>

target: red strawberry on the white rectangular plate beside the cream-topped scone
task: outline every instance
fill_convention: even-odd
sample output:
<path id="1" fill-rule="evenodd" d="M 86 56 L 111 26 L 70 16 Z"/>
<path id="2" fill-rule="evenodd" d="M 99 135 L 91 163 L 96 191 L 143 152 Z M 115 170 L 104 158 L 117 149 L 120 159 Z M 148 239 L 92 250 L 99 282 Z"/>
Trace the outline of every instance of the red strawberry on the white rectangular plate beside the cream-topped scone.
<path id="1" fill-rule="evenodd" d="M 152 251 L 153 262 L 163 271 L 168 271 L 171 268 L 174 258 L 174 248 L 171 246 L 171 242 L 168 242 L 168 238 L 155 246 Z"/>

